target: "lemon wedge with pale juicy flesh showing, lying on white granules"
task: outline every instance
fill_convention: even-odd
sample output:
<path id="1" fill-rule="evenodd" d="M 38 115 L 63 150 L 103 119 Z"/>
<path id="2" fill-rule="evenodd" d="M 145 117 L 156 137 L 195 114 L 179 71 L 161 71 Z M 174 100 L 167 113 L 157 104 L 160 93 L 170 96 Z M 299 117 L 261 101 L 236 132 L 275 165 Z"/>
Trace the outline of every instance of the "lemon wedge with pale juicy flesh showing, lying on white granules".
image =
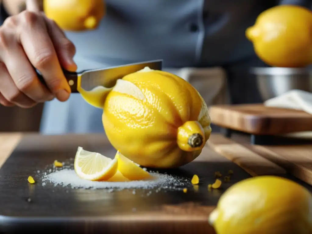
<path id="1" fill-rule="evenodd" d="M 74 168 L 77 175 L 86 180 L 101 181 L 113 177 L 118 169 L 117 158 L 107 158 L 102 154 L 89 152 L 78 147 Z"/>

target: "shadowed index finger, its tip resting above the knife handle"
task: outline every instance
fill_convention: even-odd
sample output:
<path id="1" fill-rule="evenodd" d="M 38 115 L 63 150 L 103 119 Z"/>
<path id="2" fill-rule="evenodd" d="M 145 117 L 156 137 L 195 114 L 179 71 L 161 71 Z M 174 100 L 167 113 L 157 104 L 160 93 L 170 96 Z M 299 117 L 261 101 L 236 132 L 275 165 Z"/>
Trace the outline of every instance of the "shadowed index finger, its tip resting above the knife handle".
<path id="1" fill-rule="evenodd" d="M 76 71 L 77 65 L 73 60 L 73 57 L 76 54 L 76 47 L 66 38 L 64 32 L 54 21 L 46 18 L 46 22 L 49 35 L 61 66 L 68 71 Z"/>

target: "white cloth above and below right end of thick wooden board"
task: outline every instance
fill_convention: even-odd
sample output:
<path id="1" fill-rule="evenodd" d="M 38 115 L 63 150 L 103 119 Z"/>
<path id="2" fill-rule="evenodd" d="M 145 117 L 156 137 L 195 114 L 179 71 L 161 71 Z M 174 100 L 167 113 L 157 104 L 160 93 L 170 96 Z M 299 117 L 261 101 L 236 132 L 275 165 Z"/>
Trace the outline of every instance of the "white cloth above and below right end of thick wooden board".
<path id="1" fill-rule="evenodd" d="M 290 90 L 278 97 L 264 102 L 265 106 L 303 110 L 312 115 L 312 93 L 303 90 Z M 312 138 L 312 132 L 296 132 L 286 134 L 296 138 Z"/>

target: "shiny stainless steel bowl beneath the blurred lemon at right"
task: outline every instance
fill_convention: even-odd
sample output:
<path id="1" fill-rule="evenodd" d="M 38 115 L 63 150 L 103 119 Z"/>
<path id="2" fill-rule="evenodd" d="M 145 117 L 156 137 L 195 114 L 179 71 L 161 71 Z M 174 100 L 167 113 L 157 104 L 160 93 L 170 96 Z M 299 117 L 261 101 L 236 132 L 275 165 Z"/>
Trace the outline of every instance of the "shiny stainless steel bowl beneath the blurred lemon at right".
<path id="1" fill-rule="evenodd" d="M 263 101 L 293 89 L 312 92 L 312 70 L 308 68 L 255 67 L 251 73 L 256 75 Z"/>

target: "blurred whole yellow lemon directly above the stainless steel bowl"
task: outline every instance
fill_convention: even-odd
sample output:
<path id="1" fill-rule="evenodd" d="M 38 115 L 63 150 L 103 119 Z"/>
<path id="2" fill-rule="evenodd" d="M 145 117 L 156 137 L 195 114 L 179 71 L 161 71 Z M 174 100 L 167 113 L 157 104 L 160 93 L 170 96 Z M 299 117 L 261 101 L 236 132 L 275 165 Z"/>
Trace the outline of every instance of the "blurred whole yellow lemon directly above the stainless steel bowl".
<path id="1" fill-rule="evenodd" d="M 272 7 L 258 16 L 246 37 L 268 65 L 304 67 L 312 62 L 312 12 L 307 8 Z"/>

